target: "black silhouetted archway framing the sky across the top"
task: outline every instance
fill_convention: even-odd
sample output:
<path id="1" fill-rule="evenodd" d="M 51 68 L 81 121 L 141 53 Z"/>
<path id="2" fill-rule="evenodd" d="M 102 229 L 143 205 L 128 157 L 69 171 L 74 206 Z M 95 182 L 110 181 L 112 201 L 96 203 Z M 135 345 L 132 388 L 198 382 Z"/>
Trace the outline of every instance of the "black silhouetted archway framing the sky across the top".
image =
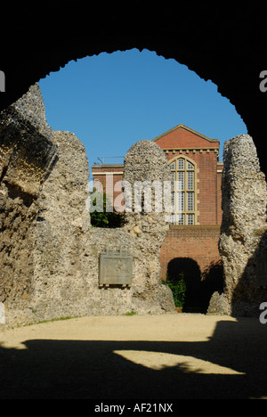
<path id="1" fill-rule="evenodd" d="M 260 74 L 267 70 L 264 7 L 182 3 L 177 16 L 169 4 L 146 10 L 138 4 L 128 9 L 94 2 L 88 10 L 69 0 L 47 1 L 39 9 L 4 2 L 0 70 L 5 93 L 0 94 L 0 110 L 71 60 L 146 48 L 185 64 L 218 86 L 247 125 L 266 173 L 267 93 L 259 88 Z"/>

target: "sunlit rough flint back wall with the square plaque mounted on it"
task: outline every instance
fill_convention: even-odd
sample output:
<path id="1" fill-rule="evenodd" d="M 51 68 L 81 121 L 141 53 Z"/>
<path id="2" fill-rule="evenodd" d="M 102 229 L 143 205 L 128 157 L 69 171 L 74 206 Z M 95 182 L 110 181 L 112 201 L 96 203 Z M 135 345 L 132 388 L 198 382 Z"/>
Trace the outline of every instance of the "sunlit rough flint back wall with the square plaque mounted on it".
<path id="1" fill-rule="evenodd" d="M 155 218 L 153 213 L 128 213 L 123 228 L 92 227 L 86 209 L 89 168 L 85 148 L 69 132 L 55 132 L 54 138 L 59 159 L 40 193 L 34 232 L 36 286 L 30 304 L 34 314 L 49 319 L 55 315 L 159 313 L 173 308 L 169 290 L 159 282 L 159 251 L 167 230 L 166 223 L 159 222 L 159 216 L 164 214 Z M 128 168 L 132 176 L 134 172 L 138 176 L 142 171 L 149 172 L 141 161 L 155 148 L 164 161 L 162 170 L 168 175 L 166 159 L 157 145 L 143 141 L 136 148 L 125 157 L 126 181 Z M 159 159 L 155 169 L 150 159 L 156 177 L 160 165 Z M 134 176 L 131 180 L 134 181 Z M 125 249 L 132 254 L 134 271 L 130 288 L 99 287 L 99 257 L 107 249 Z"/>

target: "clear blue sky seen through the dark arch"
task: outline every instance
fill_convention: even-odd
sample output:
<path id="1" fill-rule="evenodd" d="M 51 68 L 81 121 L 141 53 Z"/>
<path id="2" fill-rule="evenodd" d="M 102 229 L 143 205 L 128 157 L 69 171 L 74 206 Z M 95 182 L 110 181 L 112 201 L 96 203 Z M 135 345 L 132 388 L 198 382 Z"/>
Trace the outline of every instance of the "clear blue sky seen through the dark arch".
<path id="1" fill-rule="evenodd" d="M 70 61 L 38 82 L 47 123 L 74 133 L 89 166 L 182 123 L 221 143 L 247 127 L 217 86 L 174 60 L 132 49 Z M 122 163 L 123 159 L 105 159 Z"/>

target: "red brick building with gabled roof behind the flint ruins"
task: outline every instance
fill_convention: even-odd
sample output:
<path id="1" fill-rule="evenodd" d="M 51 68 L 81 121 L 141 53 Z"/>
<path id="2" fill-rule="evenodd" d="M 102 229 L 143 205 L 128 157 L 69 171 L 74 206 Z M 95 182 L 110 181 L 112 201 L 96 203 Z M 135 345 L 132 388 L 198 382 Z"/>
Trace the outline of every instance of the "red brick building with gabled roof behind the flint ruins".
<path id="1" fill-rule="evenodd" d="M 220 290 L 222 279 L 218 268 L 223 173 L 223 163 L 218 159 L 220 143 L 182 124 L 153 141 L 165 152 L 175 184 L 171 226 L 161 248 L 161 278 L 175 274 L 187 277 L 190 306 L 194 307 L 199 304 L 196 299 L 203 283 L 206 298 L 212 275 L 210 292 Z M 123 165 L 93 165 L 93 179 L 100 181 L 108 194 L 122 180 L 123 169 Z M 119 184 L 116 186 L 113 199 L 121 193 Z"/>

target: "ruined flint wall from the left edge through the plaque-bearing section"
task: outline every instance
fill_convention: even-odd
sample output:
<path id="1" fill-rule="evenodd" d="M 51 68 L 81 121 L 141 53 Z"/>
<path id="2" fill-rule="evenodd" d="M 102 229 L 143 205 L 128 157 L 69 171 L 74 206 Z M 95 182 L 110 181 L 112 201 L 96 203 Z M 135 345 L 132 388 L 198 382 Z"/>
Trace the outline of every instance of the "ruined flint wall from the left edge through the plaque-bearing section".
<path id="1" fill-rule="evenodd" d="M 165 213 L 126 213 L 125 226 L 90 225 L 85 147 L 45 121 L 38 86 L 1 114 L 1 282 L 8 325 L 74 315 L 161 313 L 174 308 L 160 283 Z M 136 143 L 125 157 L 125 184 L 169 179 L 156 143 Z M 153 197 L 152 197 L 153 200 Z M 133 256 L 129 288 L 99 287 L 107 249 Z"/>

